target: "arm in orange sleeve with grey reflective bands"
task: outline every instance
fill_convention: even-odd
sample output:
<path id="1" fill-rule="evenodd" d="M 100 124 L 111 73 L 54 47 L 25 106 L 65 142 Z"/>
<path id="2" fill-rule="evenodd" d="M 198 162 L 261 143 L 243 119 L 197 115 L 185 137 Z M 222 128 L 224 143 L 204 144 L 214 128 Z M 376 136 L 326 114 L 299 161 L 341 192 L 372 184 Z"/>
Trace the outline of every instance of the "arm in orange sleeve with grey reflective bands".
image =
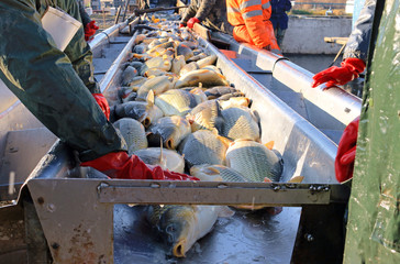
<path id="1" fill-rule="evenodd" d="M 271 7 L 267 3 L 266 11 L 270 18 Z M 245 0 L 240 7 L 240 11 L 247 32 L 253 40 L 254 45 L 264 48 L 270 45 L 270 38 L 274 37 L 274 31 L 269 32 L 264 23 L 262 0 Z"/>

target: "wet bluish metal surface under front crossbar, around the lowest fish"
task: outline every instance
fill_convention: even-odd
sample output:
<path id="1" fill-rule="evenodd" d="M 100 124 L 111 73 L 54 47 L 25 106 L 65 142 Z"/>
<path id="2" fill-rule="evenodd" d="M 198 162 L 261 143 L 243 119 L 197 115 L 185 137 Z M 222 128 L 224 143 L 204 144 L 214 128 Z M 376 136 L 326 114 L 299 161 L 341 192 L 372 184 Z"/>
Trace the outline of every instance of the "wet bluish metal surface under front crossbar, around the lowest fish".
<path id="1" fill-rule="evenodd" d="M 114 263 L 290 263 L 301 208 L 235 210 L 220 218 L 185 258 L 171 257 L 143 215 L 143 207 L 114 206 Z"/>

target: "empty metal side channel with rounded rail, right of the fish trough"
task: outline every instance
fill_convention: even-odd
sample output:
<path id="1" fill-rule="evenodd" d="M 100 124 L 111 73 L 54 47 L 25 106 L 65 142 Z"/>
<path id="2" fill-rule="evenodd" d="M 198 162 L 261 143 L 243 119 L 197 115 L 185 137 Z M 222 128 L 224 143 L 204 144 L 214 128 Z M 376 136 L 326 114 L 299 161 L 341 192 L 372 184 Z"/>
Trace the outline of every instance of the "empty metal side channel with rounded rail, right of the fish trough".
<path id="1" fill-rule="evenodd" d="M 236 52 L 232 62 L 246 70 L 262 86 L 286 102 L 326 136 L 338 143 L 344 128 L 359 116 L 362 100 L 338 87 L 324 90 L 325 85 L 311 88 L 310 72 L 291 63 L 289 58 L 266 52 L 232 36 L 213 33 L 214 40 L 230 43 Z"/>

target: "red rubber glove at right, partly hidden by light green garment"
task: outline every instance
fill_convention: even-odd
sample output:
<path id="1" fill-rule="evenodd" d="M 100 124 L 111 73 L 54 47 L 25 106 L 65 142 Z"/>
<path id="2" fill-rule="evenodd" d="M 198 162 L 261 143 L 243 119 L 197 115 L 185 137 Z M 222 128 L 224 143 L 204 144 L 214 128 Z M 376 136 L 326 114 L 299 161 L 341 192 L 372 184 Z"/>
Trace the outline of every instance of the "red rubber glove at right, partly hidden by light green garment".
<path id="1" fill-rule="evenodd" d="M 359 117 L 352 121 L 343 131 L 335 158 L 336 179 L 343 183 L 353 177 L 354 160 L 356 157 Z"/>

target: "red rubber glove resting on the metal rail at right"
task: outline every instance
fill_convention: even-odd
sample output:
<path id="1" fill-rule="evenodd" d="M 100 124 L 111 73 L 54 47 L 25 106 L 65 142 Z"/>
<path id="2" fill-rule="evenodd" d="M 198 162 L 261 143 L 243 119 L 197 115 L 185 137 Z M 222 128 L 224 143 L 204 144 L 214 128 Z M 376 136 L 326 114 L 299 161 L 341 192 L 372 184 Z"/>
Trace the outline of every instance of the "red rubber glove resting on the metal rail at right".
<path id="1" fill-rule="evenodd" d="M 318 73 L 312 78 L 314 81 L 311 87 L 314 88 L 326 82 L 326 88 L 335 85 L 345 85 L 355 78 L 365 69 L 365 63 L 360 58 L 346 58 L 342 62 L 341 67 L 332 66 Z"/>

